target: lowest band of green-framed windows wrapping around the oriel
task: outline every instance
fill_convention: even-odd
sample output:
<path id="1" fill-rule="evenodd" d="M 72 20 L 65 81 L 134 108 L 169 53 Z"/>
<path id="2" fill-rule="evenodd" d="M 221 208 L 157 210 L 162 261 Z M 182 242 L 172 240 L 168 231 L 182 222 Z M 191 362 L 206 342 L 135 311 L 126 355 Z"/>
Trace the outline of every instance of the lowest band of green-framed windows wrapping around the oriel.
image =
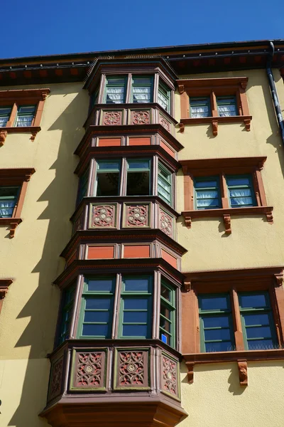
<path id="1" fill-rule="evenodd" d="M 160 337 L 162 342 L 175 348 L 176 292 L 176 286 L 164 279 L 158 288 L 153 273 L 86 275 L 79 307 L 75 305 L 74 285 L 63 292 L 58 344 L 70 338 L 71 319 L 78 318 L 75 327 L 75 337 L 78 339 Z M 160 297 L 158 336 L 153 323 L 153 319 L 159 315 L 155 295 Z M 74 310 L 78 310 L 78 316 Z"/>

